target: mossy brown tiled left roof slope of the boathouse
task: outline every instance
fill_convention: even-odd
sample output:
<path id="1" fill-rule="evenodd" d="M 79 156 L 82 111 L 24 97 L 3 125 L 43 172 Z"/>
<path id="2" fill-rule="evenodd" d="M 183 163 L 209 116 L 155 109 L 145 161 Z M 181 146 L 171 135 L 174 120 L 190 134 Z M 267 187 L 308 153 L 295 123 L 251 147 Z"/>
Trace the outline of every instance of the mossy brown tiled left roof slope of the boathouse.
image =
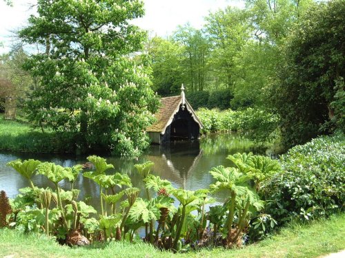
<path id="1" fill-rule="evenodd" d="M 161 107 L 155 114 L 157 121 L 148 127 L 146 131 L 164 131 L 166 124 L 170 118 L 179 110 L 181 104 L 181 96 L 172 96 L 161 98 Z"/>

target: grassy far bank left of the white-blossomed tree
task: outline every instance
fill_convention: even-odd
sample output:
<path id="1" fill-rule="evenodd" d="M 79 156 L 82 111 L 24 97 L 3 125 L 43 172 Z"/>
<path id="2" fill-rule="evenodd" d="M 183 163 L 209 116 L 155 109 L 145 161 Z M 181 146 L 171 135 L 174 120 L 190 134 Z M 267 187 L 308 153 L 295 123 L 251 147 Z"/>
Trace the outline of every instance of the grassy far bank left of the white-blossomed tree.
<path id="1" fill-rule="evenodd" d="M 5 120 L 0 115 L 0 149 L 31 153 L 64 153 L 69 144 L 57 133 L 32 129 L 24 120 Z"/>

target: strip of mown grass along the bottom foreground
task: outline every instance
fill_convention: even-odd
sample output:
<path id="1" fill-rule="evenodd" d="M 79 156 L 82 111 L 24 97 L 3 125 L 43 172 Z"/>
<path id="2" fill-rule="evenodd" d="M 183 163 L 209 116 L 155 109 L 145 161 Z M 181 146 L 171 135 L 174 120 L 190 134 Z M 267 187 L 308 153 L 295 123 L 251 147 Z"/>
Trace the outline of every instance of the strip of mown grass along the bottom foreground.
<path id="1" fill-rule="evenodd" d="M 45 235 L 22 235 L 0 230 L 0 257 L 319 257 L 345 249 L 345 215 L 320 219 L 311 224 L 290 224 L 280 233 L 239 250 L 200 250 L 174 255 L 144 243 L 109 244 L 68 248 Z"/>

